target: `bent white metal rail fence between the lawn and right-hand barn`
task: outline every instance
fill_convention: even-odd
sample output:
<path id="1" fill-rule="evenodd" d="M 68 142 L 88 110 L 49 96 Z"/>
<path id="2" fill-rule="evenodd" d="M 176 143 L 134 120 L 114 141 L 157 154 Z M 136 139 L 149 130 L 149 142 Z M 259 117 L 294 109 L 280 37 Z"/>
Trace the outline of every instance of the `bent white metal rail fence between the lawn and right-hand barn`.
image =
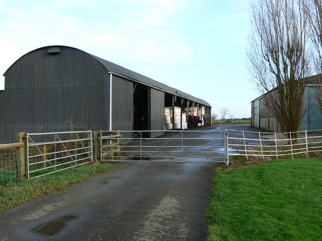
<path id="1" fill-rule="evenodd" d="M 265 133 L 228 130 L 229 156 L 261 159 L 321 156 L 322 130 Z M 257 137 L 256 137 L 257 136 Z"/>

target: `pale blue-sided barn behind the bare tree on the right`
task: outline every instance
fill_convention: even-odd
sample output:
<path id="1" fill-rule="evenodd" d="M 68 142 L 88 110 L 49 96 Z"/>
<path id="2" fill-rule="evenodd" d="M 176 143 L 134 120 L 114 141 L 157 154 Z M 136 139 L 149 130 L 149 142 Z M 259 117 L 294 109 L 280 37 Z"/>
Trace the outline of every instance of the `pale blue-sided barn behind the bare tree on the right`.
<path id="1" fill-rule="evenodd" d="M 306 112 L 302 118 L 298 131 L 320 130 L 322 129 L 322 114 L 316 102 L 316 91 L 321 75 L 310 76 L 306 79 L 306 87 L 304 91 L 303 105 Z M 252 126 L 261 128 L 271 132 L 282 132 L 276 117 L 265 106 L 266 94 L 259 96 L 251 101 L 252 108 Z"/>

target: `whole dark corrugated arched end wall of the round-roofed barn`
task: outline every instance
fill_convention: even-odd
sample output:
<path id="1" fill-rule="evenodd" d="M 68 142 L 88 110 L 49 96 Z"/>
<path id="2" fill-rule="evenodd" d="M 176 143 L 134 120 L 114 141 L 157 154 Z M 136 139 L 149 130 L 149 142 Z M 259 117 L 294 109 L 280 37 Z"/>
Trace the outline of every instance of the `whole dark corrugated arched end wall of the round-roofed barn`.
<path id="1" fill-rule="evenodd" d="M 7 142 L 17 132 L 69 131 L 71 119 L 84 129 L 108 127 L 108 73 L 85 52 L 64 47 L 51 55 L 42 48 L 15 62 L 5 77 L 0 136 Z"/>

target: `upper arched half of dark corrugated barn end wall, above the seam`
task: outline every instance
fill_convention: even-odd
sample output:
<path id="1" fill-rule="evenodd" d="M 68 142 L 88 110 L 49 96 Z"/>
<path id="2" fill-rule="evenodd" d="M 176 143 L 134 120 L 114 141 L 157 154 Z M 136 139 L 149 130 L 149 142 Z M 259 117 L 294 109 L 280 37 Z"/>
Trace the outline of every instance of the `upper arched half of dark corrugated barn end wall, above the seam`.
<path id="1" fill-rule="evenodd" d="M 107 85 L 107 70 L 93 56 L 70 47 L 61 47 L 59 54 L 47 50 L 18 59 L 5 73 L 5 89 Z"/>

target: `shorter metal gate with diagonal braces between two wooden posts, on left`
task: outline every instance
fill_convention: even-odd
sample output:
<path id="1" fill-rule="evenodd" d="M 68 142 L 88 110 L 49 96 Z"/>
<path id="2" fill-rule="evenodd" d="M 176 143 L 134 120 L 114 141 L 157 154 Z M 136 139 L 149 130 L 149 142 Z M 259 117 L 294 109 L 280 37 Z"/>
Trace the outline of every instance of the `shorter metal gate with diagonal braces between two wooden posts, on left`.
<path id="1" fill-rule="evenodd" d="M 27 133 L 27 178 L 93 162 L 92 131 Z"/>

